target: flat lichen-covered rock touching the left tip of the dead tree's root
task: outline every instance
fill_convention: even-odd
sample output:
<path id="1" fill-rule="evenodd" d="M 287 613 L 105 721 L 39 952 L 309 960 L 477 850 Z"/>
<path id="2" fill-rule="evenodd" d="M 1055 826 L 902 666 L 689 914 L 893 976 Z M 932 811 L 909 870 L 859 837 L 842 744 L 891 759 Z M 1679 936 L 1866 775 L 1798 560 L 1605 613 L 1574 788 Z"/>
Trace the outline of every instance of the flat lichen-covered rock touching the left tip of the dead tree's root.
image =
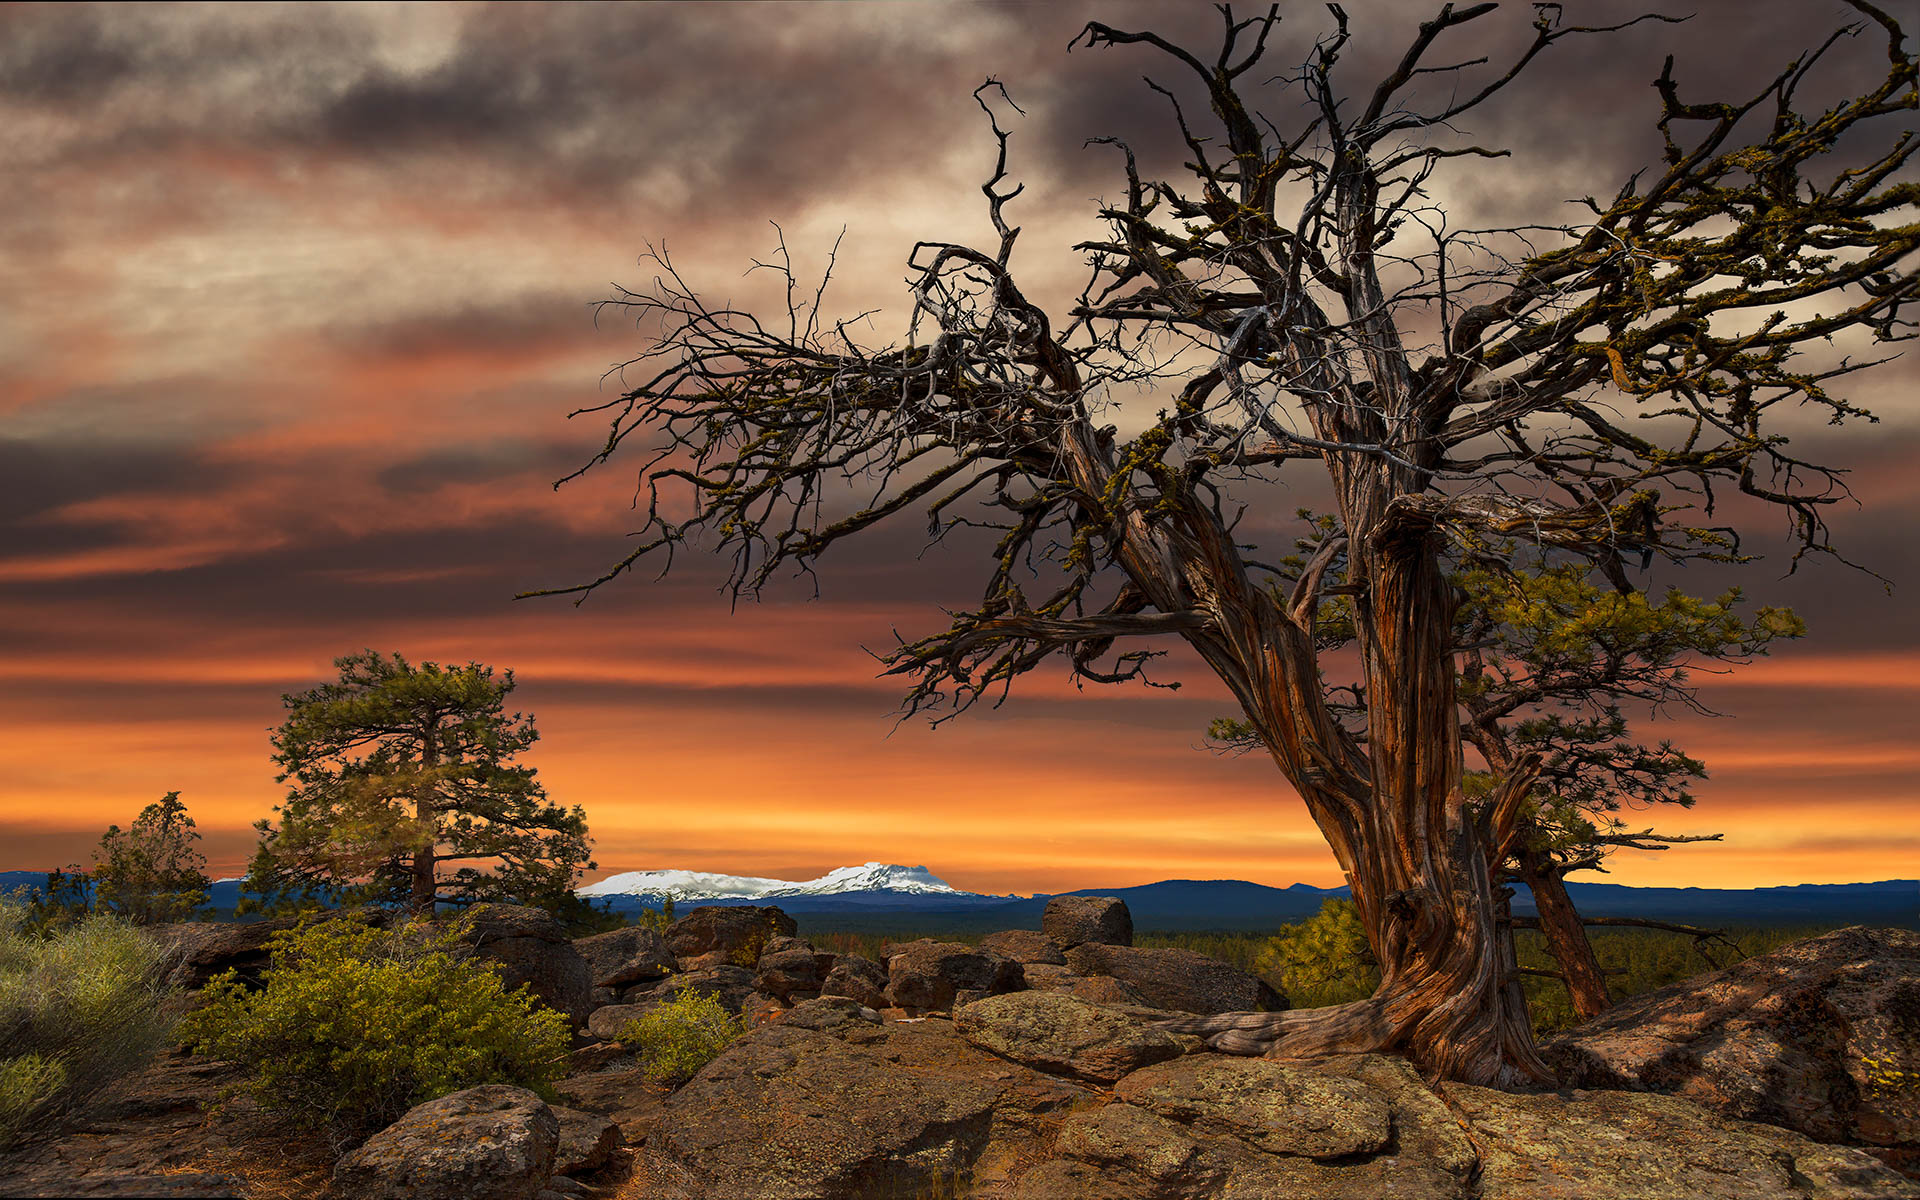
<path id="1" fill-rule="evenodd" d="M 954 1010 L 954 1029 L 1002 1058 L 1094 1083 L 1179 1058 L 1171 1033 L 1058 993 L 1006 993 Z"/>

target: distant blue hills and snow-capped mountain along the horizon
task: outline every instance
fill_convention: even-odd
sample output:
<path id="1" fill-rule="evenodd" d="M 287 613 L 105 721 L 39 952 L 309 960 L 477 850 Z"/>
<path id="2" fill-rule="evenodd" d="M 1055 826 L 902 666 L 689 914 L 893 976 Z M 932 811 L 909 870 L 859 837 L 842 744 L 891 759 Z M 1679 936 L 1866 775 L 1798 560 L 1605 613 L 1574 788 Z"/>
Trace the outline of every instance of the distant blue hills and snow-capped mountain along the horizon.
<path id="1" fill-rule="evenodd" d="M 44 872 L 0 872 L 0 893 L 15 887 L 38 889 Z M 1622 883 L 1569 883 L 1584 916 L 1620 916 L 1701 925 L 1901 925 L 1920 927 L 1920 879 L 1882 879 L 1874 883 L 1797 883 L 1782 887 L 1626 887 Z M 622 872 L 580 887 L 589 900 L 614 912 L 634 914 L 659 908 L 668 897 L 676 904 L 780 904 L 795 914 L 831 916 L 837 925 L 874 920 L 914 918 L 947 922 L 954 929 L 1037 929 L 1052 895 L 998 897 L 960 891 L 925 866 L 866 862 L 847 866 L 818 879 L 764 879 L 712 872 L 649 870 Z M 1526 889 L 1517 889 L 1513 910 L 1532 916 Z M 1058 895 L 1119 897 L 1133 912 L 1137 929 L 1271 929 L 1319 912 L 1327 899 L 1344 899 L 1346 887 L 1267 887 L 1244 879 L 1162 879 L 1135 887 L 1081 887 Z M 213 908 L 232 912 L 240 897 L 238 879 L 211 887 Z"/>

